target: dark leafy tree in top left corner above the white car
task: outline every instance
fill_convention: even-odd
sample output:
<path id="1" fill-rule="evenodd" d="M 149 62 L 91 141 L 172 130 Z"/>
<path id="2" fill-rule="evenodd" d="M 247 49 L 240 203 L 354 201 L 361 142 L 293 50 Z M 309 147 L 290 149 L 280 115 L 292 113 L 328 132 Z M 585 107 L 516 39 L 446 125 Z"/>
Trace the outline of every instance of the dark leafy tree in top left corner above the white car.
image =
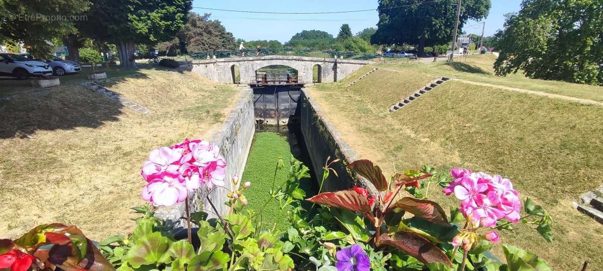
<path id="1" fill-rule="evenodd" d="M 22 41 L 31 54 L 51 52 L 47 41 L 77 32 L 77 20 L 90 7 L 87 0 L 0 1 L 0 42 Z"/>

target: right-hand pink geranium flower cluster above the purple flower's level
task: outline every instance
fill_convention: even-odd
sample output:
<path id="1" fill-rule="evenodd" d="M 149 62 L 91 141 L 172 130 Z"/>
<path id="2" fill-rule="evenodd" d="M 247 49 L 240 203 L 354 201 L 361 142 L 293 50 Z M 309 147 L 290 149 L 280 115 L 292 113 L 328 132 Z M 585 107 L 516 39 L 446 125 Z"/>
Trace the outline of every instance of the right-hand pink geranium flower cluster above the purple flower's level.
<path id="1" fill-rule="evenodd" d="M 454 193 L 461 201 L 460 210 L 465 217 L 488 228 L 496 226 L 500 219 L 519 221 L 522 202 L 509 179 L 459 167 L 452 169 L 450 175 L 455 180 L 443 192 Z"/>

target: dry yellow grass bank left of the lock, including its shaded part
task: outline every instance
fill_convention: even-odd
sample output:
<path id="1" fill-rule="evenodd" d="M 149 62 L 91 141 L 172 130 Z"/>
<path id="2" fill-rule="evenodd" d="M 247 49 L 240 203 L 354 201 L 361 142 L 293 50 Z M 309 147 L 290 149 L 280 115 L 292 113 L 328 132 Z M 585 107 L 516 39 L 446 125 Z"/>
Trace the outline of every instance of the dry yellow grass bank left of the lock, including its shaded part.
<path id="1" fill-rule="evenodd" d="M 0 236 L 40 223 L 78 225 L 99 240 L 133 228 L 148 151 L 207 138 L 238 97 L 194 73 L 139 70 L 107 83 L 149 108 L 123 108 L 77 84 L 0 103 Z"/>

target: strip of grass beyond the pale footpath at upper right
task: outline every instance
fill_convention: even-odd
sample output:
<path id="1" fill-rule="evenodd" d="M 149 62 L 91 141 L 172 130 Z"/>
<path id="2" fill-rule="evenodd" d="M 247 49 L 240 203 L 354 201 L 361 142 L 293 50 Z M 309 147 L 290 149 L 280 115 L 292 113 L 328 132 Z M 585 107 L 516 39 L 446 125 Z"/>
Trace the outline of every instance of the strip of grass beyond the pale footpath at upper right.
<path id="1" fill-rule="evenodd" d="M 414 70 L 416 72 L 424 72 L 436 76 L 450 76 L 479 83 L 496 84 L 505 87 L 603 101 L 603 87 L 572 84 L 562 81 L 530 79 L 526 78 L 521 72 L 507 76 L 494 76 L 494 61 L 496 61 L 496 56 L 487 54 L 468 56 L 466 61 L 455 63 L 447 63 L 446 61 L 418 63 L 417 61 L 414 61 L 377 64 L 377 67 L 396 69 L 402 72 Z"/>

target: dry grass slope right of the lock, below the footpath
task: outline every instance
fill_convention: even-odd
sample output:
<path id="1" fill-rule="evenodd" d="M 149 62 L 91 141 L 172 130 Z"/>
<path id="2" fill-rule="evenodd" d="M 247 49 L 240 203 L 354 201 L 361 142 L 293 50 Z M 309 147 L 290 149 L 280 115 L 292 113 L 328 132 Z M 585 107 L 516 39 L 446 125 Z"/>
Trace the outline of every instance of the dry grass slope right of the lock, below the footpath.
<path id="1" fill-rule="evenodd" d="M 358 156 L 376 161 L 387 173 L 394 166 L 429 164 L 443 171 L 461 166 L 507 176 L 522 198 L 551 213 L 556 240 L 546 243 L 529 226 L 517 225 L 502 235 L 503 243 L 535 252 L 556 270 L 579 269 L 585 260 L 592 270 L 603 269 L 601 225 L 572 208 L 581 193 L 603 179 L 603 107 L 451 81 L 387 113 L 389 92 L 415 90 L 428 78 L 418 75 L 434 71 L 414 67 L 405 66 L 387 80 L 371 74 L 349 88 L 345 83 L 318 86 L 311 95 Z M 397 89 L 386 87 L 391 80 L 399 80 Z M 529 84 L 541 82 L 549 81 Z M 429 194 L 445 210 L 458 205 L 437 189 Z M 502 257 L 499 249 L 495 252 Z"/>

